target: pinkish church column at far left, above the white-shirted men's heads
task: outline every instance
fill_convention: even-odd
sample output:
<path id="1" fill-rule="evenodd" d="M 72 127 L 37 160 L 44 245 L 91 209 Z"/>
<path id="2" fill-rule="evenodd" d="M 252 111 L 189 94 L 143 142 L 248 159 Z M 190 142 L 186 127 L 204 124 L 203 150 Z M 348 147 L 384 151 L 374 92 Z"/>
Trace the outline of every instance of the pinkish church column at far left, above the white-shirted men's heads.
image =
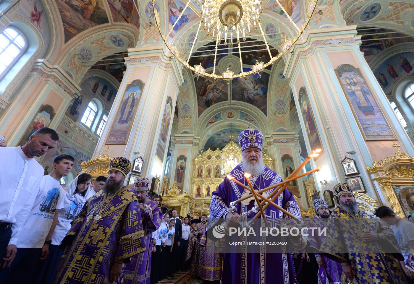
<path id="1" fill-rule="evenodd" d="M 38 60 L 1 112 L 0 135 L 14 147 L 25 144 L 38 128 L 56 129 L 80 90 L 60 67 Z"/>

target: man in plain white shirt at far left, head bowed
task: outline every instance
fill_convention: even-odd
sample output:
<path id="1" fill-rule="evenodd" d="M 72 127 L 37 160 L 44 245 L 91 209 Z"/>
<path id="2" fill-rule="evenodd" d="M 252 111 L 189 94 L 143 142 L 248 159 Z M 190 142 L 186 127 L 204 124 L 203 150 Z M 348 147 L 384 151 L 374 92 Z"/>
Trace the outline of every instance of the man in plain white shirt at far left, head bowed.
<path id="1" fill-rule="evenodd" d="M 32 208 L 43 177 L 43 167 L 34 159 L 55 147 L 58 134 L 51 128 L 40 128 L 20 147 L 0 147 L 0 269 L 9 267 L 17 240 Z"/>

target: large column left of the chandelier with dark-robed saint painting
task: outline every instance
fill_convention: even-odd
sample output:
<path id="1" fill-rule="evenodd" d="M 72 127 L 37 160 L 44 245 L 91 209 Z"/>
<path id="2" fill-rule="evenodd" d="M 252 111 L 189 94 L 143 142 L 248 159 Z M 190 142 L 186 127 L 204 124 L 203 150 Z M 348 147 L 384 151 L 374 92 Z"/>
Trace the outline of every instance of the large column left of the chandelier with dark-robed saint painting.
<path id="1" fill-rule="evenodd" d="M 133 168 L 141 156 L 141 175 L 150 180 L 160 175 L 162 183 L 178 85 L 183 79 L 176 61 L 161 47 L 147 49 L 128 49 L 127 70 L 94 156 L 109 146 L 110 156 L 128 158 Z"/>

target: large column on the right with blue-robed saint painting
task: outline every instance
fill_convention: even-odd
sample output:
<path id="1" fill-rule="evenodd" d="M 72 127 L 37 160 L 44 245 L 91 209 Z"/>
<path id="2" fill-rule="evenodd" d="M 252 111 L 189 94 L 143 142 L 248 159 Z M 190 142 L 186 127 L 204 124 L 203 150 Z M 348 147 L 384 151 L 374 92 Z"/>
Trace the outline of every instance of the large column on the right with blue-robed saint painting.
<path id="1" fill-rule="evenodd" d="M 367 165 L 395 153 L 397 142 L 414 154 L 413 144 L 359 50 L 356 26 L 312 30 L 289 54 L 286 76 L 294 94 L 308 152 L 322 148 L 312 161 L 317 186 L 346 182 L 341 161 L 356 161 L 367 195 L 388 204 L 366 172 Z M 347 154 L 347 152 L 351 154 Z M 354 153 L 354 154 L 353 154 Z"/>

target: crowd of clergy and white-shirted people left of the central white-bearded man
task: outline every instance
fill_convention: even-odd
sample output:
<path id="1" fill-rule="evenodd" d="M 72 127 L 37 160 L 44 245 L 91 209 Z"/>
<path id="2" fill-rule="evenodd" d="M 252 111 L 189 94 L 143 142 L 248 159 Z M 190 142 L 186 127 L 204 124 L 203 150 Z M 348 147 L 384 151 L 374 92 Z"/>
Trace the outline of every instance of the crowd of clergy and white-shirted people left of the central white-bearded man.
<path id="1" fill-rule="evenodd" d="M 55 156 L 47 175 L 34 159 L 58 140 L 41 128 L 24 146 L 0 144 L 0 284 L 149 284 L 193 268 L 207 215 L 163 214 L 160 196 L 148 196 L 148 178 L 123 185 L 131 169 L 123 157 L 111 161 L 108 176 L 92 182 L 81 173 L 60 184 L 73 156 Z"/>

